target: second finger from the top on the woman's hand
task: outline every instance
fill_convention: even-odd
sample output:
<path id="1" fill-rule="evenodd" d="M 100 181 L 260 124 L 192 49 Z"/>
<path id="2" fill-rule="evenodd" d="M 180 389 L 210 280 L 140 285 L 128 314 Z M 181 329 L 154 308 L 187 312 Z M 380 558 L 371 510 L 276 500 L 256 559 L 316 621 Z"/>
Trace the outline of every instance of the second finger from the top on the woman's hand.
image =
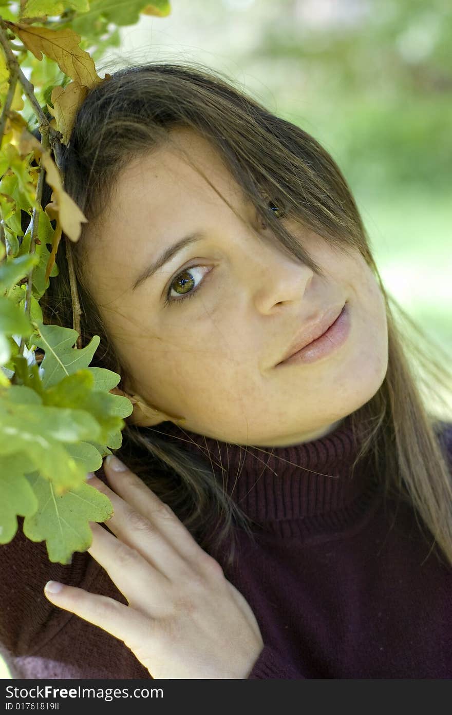
<path id="1" fill-rule="evenodd" d="M 175 580 L 187 571 L 184 559 L 158 526 L 129 505 L 125 490 L 123 499 L 97 477 L 90 479 L 89 485 L 104 493 L 112 502 L 114 513 L 105 526 L 122 543 L 137 551 L 165 578 Z"/>

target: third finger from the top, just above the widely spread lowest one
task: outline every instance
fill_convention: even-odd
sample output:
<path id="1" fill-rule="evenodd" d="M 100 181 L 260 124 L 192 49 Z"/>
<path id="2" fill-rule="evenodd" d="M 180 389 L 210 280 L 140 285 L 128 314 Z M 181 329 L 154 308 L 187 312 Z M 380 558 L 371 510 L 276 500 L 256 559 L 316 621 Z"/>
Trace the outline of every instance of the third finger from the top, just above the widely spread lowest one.
<path id="1" fill-rule="evenodd" d="M 149 616 L 161 613 L 168 603 L 169 579 L 99 524 L 90 522 L 89 526 L 93 538 L 88 553 L 107 571 L 129 605 Z"/>

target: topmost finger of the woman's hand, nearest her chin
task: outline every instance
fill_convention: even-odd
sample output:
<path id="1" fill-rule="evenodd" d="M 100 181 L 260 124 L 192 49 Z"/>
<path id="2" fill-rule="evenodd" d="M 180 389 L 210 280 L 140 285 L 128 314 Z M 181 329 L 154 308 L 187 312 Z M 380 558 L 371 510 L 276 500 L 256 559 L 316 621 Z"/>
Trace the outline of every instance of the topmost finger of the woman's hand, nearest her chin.
<path id="1" fill-rule="evenodd" d="M 182 521 L 137 475 L 122 462 L 120 464 L 124 469 L 113 469 L 117 461 L 119 461 L 117 458 L 104 460 L 104 471 L 114 491 L 135 511 L 157 526 L 158 531 L 167 538 L 185 562 L 190 562 L 192 566 L 200 566 L 210 561 L 210 557 L 202 550 Z"/>

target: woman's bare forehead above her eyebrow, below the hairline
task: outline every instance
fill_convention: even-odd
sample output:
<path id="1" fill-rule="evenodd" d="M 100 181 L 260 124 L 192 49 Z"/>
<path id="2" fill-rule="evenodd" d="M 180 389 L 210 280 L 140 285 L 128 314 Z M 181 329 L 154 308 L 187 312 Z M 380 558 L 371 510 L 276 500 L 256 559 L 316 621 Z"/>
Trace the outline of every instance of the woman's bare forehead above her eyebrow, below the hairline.
<path id="1" fill-rule="evenodd" d="M 174 129 L 167 144 L 134 158 L 119 174 L 102 217 L 91 233 L 88 227 L 85 280 L 94 293 L 99 282 L 110 290 L 112 275 L 124 286 L 168 245 L 246 220 L 248 210 L 220 152 L 192 129 Z"/>

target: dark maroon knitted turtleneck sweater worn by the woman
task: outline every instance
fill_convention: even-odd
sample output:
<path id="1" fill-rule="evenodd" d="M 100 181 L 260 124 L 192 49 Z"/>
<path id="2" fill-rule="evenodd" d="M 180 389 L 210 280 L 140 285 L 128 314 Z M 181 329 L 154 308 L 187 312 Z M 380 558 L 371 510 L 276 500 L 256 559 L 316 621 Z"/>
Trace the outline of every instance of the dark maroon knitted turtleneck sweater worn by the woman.
<path id="1" fill-rule="evenodd" d="M 452 425 L 444 428 L 452 465 Z M 209 450 L 257 523 L 254 539 L 238 530 L 237 564 L 225 568 L 265 644 L 250 679 L 452 677 L 452 568 L 411 509 L 383 499 L 368 464 L 350 479 L 350 418 L 323 438 L 278 448 L 240 448 L 172 423 L 156 429 L 192 453 Z M 0 546 L 0 644 L 13 677 L 149 679 L 122 641 L 43 594 L 54 579 L 127 603 L 103 568 L 87 552 L 50 563 L 22 522 Z"/>

